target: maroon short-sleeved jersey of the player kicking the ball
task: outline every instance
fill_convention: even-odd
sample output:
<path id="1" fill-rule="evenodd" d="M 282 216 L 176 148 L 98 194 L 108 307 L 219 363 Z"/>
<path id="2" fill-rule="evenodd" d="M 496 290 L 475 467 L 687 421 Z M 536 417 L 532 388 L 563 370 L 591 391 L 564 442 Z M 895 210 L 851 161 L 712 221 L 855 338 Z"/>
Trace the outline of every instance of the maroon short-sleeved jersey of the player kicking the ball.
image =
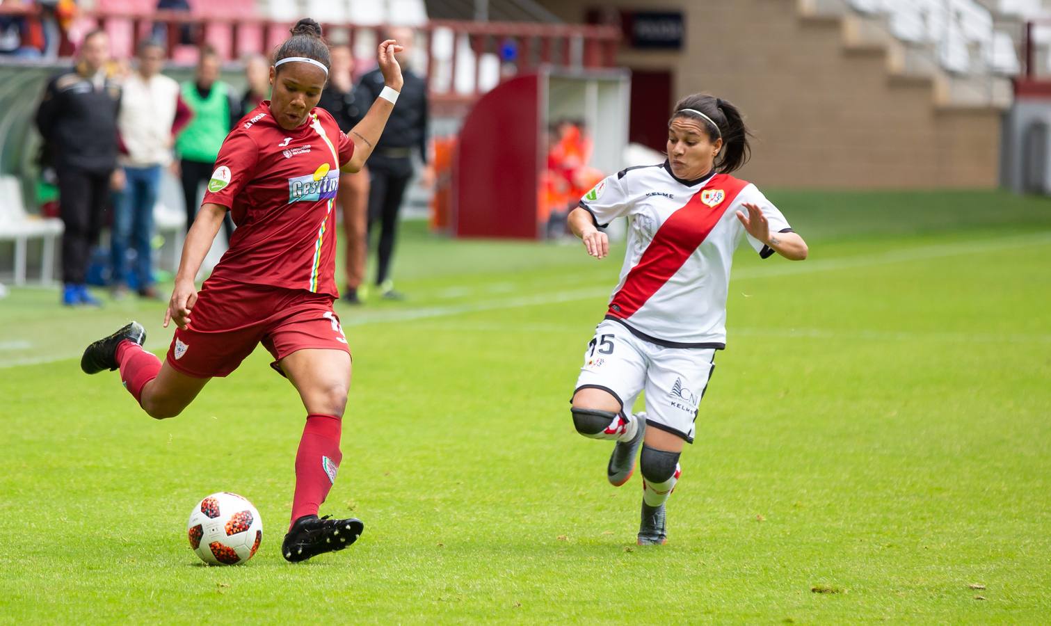
<path id="1" fill-rule="evenodd" d="M 354 143 L 325 109 L 292 130 L 270 101 L 241 119 L 223 142 L 205 203 L 229 207 L 238 228 L 213 278 L 305 289 L 338 297 L 335 193 Z"/>

